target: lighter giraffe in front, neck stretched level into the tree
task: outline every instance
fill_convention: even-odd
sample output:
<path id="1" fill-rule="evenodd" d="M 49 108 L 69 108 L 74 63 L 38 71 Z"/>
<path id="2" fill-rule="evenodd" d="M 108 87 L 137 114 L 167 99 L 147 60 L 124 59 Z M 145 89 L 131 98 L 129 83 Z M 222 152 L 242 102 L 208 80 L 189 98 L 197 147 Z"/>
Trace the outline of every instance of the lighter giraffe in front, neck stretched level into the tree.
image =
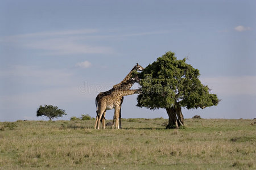
<path id="1" fill-rule="evenodd" d="M 106 110 L 115 109 L 113 122 L 115 122 L 115 128 L 119 129 L 118 118 L 119 118 L 119 111 L 121 108 L 121 101 L 123 96 L 139 94 L 139 90 L 117 90 L 113 91 L 110 95 L 103 96 L 98 101 L 98 108 L 97 108 L 97 118 L 94 129 L 100 129 L 100 120 Z M 105 129 L 105 124 L 102 124 L 102 128 Z M 114 128 L 114 124 L 112 125 Z"/>

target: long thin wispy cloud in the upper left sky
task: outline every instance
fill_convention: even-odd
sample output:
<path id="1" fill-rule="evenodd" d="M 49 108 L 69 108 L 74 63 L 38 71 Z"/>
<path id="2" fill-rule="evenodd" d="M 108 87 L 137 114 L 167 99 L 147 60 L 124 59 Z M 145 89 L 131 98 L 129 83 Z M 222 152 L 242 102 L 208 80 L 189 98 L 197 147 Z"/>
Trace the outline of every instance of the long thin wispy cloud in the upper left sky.
<path id="1" fill-rule="evenodd" d="M 88 42 L 83 42 L 86 40 L 87 35 L 97 32 L 97 29 L 78 29 L 27 33 L 24 35 L 2 37 L 0 42 L 21 48 L 40 50 L 40 54 L 46 56 L 115 53 L 111 47 L 88 45 Z M 84 37 L 84 39 L 81 37 Z"/>

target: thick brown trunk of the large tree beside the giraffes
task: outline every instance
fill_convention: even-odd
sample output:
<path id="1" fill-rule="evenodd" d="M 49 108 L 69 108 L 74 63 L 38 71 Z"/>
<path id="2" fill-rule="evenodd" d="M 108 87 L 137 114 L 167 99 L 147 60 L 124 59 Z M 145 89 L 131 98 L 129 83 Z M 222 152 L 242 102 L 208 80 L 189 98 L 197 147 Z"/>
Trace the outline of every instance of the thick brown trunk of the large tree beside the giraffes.
<path id="1" fill-rule="evenodd" d="M 181 107 L 166 108 L 166 111 L 169 116 L 169 122 L 166 129 L 178 129 L 180 126 L 184 126 L 184 117 L 181 112 Z"/>

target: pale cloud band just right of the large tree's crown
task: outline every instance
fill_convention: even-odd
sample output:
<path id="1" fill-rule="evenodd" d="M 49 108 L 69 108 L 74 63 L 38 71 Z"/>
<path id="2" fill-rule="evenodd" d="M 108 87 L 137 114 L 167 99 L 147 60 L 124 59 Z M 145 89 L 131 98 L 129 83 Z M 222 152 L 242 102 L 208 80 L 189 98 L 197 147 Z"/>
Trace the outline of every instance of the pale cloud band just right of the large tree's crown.
<path id="1" fill-rule="evenodd" d="M 213 93 L 223 96 L 253 95 L 256 96 L 256 76 L 221 76 L 200 78 Z"/>

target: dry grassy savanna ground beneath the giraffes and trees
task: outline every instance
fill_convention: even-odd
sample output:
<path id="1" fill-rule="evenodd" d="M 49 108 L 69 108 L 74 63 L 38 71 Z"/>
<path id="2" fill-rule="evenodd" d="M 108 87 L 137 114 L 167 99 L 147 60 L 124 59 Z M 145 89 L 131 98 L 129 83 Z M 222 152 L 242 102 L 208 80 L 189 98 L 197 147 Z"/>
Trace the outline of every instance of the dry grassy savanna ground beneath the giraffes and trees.
<path id="1" fill-rule="evenodd" d="M 0 122 L 0 169 L 256 169 L 256 120 Z M 106 121 L 108 122 L 108 121 Z"/>

